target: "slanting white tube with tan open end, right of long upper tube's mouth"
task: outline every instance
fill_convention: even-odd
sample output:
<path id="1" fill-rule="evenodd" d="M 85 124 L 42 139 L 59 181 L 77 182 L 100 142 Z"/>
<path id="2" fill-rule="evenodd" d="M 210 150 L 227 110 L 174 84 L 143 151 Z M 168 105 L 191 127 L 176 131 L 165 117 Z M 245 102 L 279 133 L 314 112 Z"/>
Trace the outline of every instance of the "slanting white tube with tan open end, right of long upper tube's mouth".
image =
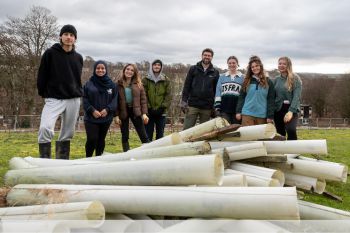
<path id="1" fill-rule="evenodd" d="M 284 174 L 280 170 L 275 170 L 275 169 L 270 169 L 265 167 L 258 167 L 258 166 L 238 163 L 238 162 L 232 162 L 230 168 L 236 171 L 241 171 L 241 172 L 255 174 L 266 178 L 276 179 L 280 183 L 280 186 L 284 185 L 284 181 L 285 181 Z"/>

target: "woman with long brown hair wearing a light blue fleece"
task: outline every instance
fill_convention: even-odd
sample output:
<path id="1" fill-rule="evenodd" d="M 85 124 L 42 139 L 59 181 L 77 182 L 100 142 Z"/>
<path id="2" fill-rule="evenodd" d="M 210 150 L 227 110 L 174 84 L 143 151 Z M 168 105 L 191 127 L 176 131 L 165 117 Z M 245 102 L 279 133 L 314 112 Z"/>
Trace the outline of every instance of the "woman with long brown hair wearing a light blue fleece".
<path id="1" fill-rule="evenodd" d="M 236 109 L 236 119 L 242 125 L 272 123 L 274 117 L 275 90 L 258 56 L 249 59 Z"/>

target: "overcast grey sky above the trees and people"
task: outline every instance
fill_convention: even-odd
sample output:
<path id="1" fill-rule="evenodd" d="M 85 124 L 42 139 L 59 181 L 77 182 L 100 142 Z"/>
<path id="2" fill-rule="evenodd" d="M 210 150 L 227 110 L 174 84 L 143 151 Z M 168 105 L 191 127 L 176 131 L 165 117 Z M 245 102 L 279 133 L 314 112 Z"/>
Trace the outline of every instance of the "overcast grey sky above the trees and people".
<path id="1" fill-rule="evenodd" d="M 95 60 L 194 64 L 210 47 L 220 68 L 254 54 L 268 70 L 289 56 L 296 72 L 350 72 L 348 0 L 1 0 L 0 23 L 33 5 L 73 24 Z"/>

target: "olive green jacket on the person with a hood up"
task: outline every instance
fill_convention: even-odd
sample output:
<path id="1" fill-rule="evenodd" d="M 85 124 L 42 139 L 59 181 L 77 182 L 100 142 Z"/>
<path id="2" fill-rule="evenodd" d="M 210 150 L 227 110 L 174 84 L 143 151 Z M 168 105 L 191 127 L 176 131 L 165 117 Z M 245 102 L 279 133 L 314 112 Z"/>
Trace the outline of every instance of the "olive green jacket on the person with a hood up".
<path id="1" fill-rule="evenodd" d="M 146 92 L 148 108 L 159 109 L 164 108 L 165 110 L 170 105 L 170 79 L 161 74 L 160 80 L 155 82 L 151 75 L 142 79 L 143 87 Z"/>

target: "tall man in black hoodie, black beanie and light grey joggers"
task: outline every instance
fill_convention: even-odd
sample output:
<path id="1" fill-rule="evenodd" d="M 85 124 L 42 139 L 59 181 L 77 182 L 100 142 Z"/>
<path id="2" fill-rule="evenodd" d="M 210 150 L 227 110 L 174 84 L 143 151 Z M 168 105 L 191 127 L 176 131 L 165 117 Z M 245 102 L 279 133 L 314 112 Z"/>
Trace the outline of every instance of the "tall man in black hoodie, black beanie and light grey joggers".
<path id="1" fill-rule="evenodd" d="M 56 141 L 56 159 L 69 159 L 70 140 L 79 116 L 82 96 L 81 73 L 83 57 L 75 51 L 77 30 L 64 25 L 59 34 L 60 43 L 47 49 L 38 71 L 38 94 L 44 98 L 38 133 L 41 158 L 51 158 L 51 140 L 54 127 L 61 116 L 61 132 Z"/>

